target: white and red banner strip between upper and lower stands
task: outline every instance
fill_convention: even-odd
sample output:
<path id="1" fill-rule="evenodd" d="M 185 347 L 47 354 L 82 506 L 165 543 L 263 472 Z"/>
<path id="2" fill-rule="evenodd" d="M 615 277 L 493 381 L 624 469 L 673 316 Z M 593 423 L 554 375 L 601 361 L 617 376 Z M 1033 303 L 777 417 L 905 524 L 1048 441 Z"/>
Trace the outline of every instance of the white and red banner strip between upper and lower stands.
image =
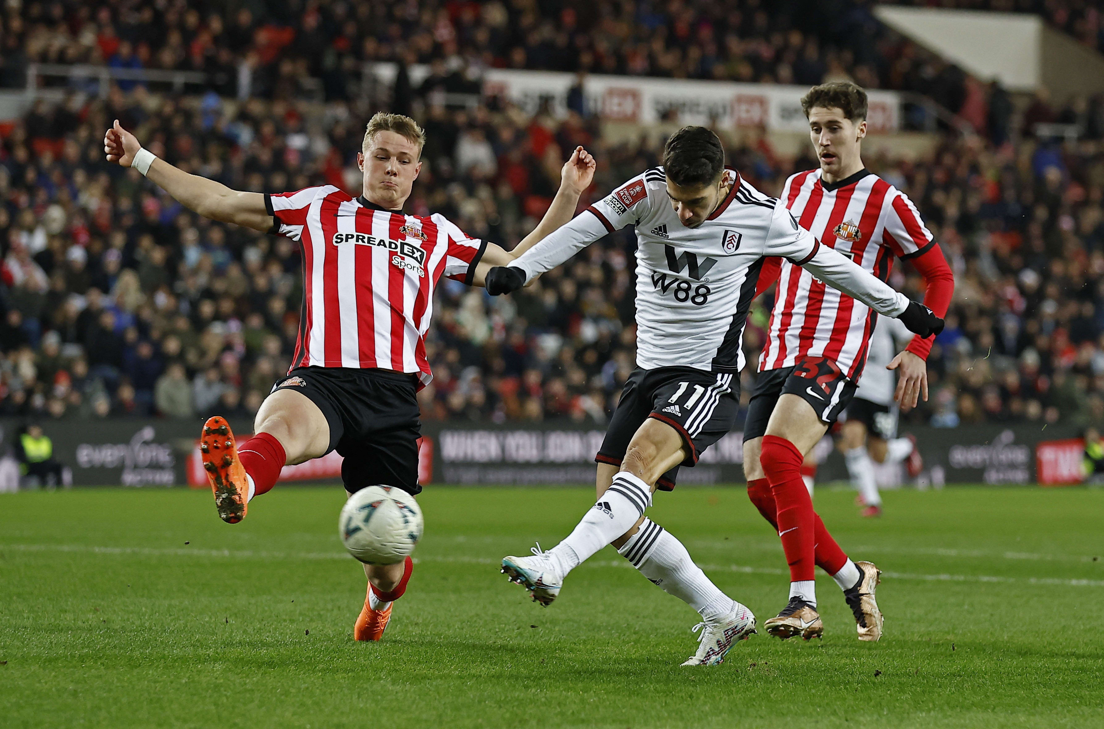
<path id="1" fill-rule="evenodd" d="M 380 82 L 393 84 L 393 63 L 372 64 Z M 425 65 L 410 67 L 417 85 L 428 75 Z M 546 106 L 553 116 L 567 113 L 567 91 L 576 83 L 572 73 L 488 68 L 482 77 L 485 96 L 501 96 L 526 114 Z M 763 127 L 785 131 L 808 131 L 802 112 L 802 96 L 808 86 L 737 84 L 726 81 L 652 78 L 644 76 L 587 75 L 583 85 L 587 107 L 607 122 L 654 124 L 670 113 L 679 124 L 715 124 L 721 128 Z M 870 89 L 868 128 L 871 133 L 900 128 L 901 97 L 895 92 Z"/>

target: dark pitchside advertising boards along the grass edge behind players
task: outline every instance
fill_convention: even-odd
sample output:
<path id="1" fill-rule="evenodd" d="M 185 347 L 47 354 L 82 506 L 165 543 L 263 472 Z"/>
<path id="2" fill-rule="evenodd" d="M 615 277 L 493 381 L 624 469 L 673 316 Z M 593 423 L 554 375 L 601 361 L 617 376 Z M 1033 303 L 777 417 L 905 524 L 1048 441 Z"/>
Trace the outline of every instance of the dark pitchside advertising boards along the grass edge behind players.
<path id="1" fill-rule="evenodd" d="M 53 440 L 54 457 L 73 472 L 77 486 L 172 486 L 206 488 L 199 458 L 199 420 L 38 421 Z M 0 421 L 0 456 L 25 421 Z M 252 423 L 232 422 L 240 436 Z M 902 429 L 917 439 L 924 456 L 923 482 L 930 484 L 1074 484 L 1082 480 L 1082 442 L 1070 427 L 976 425 L 953 430 Z M 425 484 L 580 485 L 594 483 L 594 455 L 604 431 L 574 423 L 425 423 L 420 443 L 420 478 Z M 678 483 L 742 484 L 743 434 L 732 432 L 709 448 Z M 335 484 L 342 458 L 286 466 L 282 480 Z M 846 479 L 838 452 L 820 466 L 821 483 Z"/>

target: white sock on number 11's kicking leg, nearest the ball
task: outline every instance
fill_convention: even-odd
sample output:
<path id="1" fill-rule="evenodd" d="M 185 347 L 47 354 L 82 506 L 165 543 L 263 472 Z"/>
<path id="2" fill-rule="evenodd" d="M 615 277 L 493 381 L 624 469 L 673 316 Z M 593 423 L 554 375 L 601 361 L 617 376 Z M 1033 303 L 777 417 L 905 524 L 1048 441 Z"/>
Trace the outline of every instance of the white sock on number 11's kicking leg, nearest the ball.
<path id="1" fill-rule="evenodd" d="M 578 526 L 548 551 L 560 564 L 560 577 L 565 577 L 631 529 L 649 506 L 651 488 L 648 484 L 624 471 L 614 476 L 613 485 L 583 516 Z"/>

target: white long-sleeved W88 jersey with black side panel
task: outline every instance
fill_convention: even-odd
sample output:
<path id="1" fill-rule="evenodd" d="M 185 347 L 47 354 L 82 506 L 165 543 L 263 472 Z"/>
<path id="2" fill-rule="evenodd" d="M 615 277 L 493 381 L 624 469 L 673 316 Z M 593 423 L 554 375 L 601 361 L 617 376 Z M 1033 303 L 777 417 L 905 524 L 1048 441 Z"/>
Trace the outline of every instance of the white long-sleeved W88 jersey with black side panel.
<path id="1" fill-rule="evenodd" d="M 889 316 L 909 299 L 798 226 L 786 207 L 726 168 L 732 187 L 698 228 L 679 220 L 661 167 L 639 175 L 517 258 L 527 281 L 606 233 L 636 228 L 637 366 L 739 372 L 763 257 L 783 256 Z"/>

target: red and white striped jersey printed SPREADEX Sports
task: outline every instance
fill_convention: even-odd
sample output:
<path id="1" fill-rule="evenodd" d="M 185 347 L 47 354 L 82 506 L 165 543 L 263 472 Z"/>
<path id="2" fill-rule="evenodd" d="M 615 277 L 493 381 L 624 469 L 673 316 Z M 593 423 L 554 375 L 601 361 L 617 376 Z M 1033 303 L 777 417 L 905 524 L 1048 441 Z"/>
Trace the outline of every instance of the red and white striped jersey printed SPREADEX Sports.
<path id="1" fill-rule="evenodd" d="M 332 186 L 266 194 L 272 232 L 302 244 L 291 368 L 355 367 L 433 379 L 423 337 L 442 275 L 471 283 L 486 241 L 444 215 L 404 215 Z"/>

